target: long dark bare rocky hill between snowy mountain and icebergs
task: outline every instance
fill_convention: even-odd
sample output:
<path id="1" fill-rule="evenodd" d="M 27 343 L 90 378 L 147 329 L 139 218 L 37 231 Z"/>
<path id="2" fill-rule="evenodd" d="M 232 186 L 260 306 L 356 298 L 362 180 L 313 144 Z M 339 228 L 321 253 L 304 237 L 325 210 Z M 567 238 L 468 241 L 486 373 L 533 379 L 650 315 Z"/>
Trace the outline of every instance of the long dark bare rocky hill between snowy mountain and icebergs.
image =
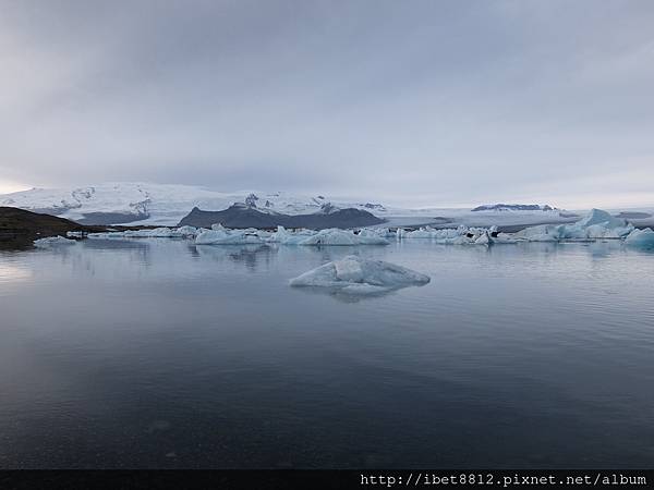
<path id="1" fill-rule="evenodd" d="M 205 226 L 220 223 L 227 228 L 310 228 L 324 230 L 326 228 L 358 228 L 383 223 L 384 220 L 371 212 L 355 208 L 338 209 L 330 212 L 313 215 L 282 215 L 278 212 L 262 212 L 254 207 L 234 205 L 222 211 L 193 210 L 180 221 L 180 226 Z"/>

